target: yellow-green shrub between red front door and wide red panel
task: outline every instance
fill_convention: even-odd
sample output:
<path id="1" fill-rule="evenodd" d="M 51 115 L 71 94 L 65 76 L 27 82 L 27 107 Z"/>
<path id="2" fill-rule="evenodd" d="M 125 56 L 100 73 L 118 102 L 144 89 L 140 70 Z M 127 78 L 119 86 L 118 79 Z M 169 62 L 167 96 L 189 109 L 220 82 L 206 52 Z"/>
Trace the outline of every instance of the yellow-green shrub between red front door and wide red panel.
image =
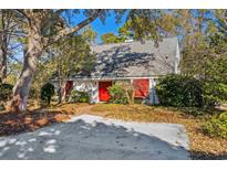
<path id="1" fill-rule="evenodd" d="M 109 93 L 111 95 L 111 103 L 114 104 L 127 104 L 127 97 L 125 91 L 122 88 L 122 85 L 114 84 L 109 87 Z"/>

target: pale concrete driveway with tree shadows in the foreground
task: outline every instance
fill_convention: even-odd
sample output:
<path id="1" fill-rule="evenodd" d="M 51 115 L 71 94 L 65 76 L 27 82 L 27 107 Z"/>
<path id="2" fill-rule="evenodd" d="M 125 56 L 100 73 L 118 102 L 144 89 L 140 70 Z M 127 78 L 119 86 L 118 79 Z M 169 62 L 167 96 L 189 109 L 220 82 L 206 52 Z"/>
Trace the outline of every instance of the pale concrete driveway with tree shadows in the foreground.
<path id="1" fill-rule="evenodd" d="M 183 125 L 91 115 L 0 138 L 0 159 L 189 159 L 188 149 Z"/>

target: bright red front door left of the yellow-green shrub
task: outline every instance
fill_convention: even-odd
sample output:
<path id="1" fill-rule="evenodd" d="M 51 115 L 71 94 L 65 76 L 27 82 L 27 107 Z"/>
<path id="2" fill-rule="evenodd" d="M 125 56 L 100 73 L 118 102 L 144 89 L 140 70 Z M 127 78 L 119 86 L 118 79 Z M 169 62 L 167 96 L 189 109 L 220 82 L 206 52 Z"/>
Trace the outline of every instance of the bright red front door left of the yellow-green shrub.
<path id="1" fill-rule="evenodd" d="M 99 82 L 100 102 L 109 102 L 111 98 L 107 87 L 112 86 L 112 82 Z"/>

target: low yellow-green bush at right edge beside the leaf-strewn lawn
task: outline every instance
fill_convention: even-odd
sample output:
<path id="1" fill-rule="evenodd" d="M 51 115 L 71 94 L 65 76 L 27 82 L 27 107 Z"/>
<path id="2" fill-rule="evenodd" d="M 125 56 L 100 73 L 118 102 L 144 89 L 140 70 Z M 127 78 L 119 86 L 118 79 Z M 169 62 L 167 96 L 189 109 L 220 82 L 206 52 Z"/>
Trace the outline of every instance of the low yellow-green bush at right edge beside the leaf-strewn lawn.
<path id="1" fill-rule="evenodd" d="M 227 139 L 227 111 L 219 116 L 214 116 L 210 120 L 202 125 L 203 131 L 210 137 Z"/>

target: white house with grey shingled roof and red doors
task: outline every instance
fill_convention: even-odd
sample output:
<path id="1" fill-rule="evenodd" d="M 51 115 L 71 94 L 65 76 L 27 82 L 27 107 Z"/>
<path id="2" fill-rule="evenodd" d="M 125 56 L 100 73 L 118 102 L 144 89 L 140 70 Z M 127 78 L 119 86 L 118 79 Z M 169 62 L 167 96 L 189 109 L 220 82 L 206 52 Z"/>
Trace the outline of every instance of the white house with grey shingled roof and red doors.
<path id="1" fill-rule="evenodd" d="M 118 81 L 136 86 L 135 97 L 146 98 L 153 95 L 159 77 L 177 74 L 179 47 L 177 38 L 167 38 L 155 47 L 153 41 L 91 46 L 96 54 L 94 67 L 89 73 L 76 73 L 69 77 L 66 91 L 83 91 L 91 96 L 91 103 L 107 102 L 107 87 Z M 151 103 L 154 98 L 148 97 Z"/>

